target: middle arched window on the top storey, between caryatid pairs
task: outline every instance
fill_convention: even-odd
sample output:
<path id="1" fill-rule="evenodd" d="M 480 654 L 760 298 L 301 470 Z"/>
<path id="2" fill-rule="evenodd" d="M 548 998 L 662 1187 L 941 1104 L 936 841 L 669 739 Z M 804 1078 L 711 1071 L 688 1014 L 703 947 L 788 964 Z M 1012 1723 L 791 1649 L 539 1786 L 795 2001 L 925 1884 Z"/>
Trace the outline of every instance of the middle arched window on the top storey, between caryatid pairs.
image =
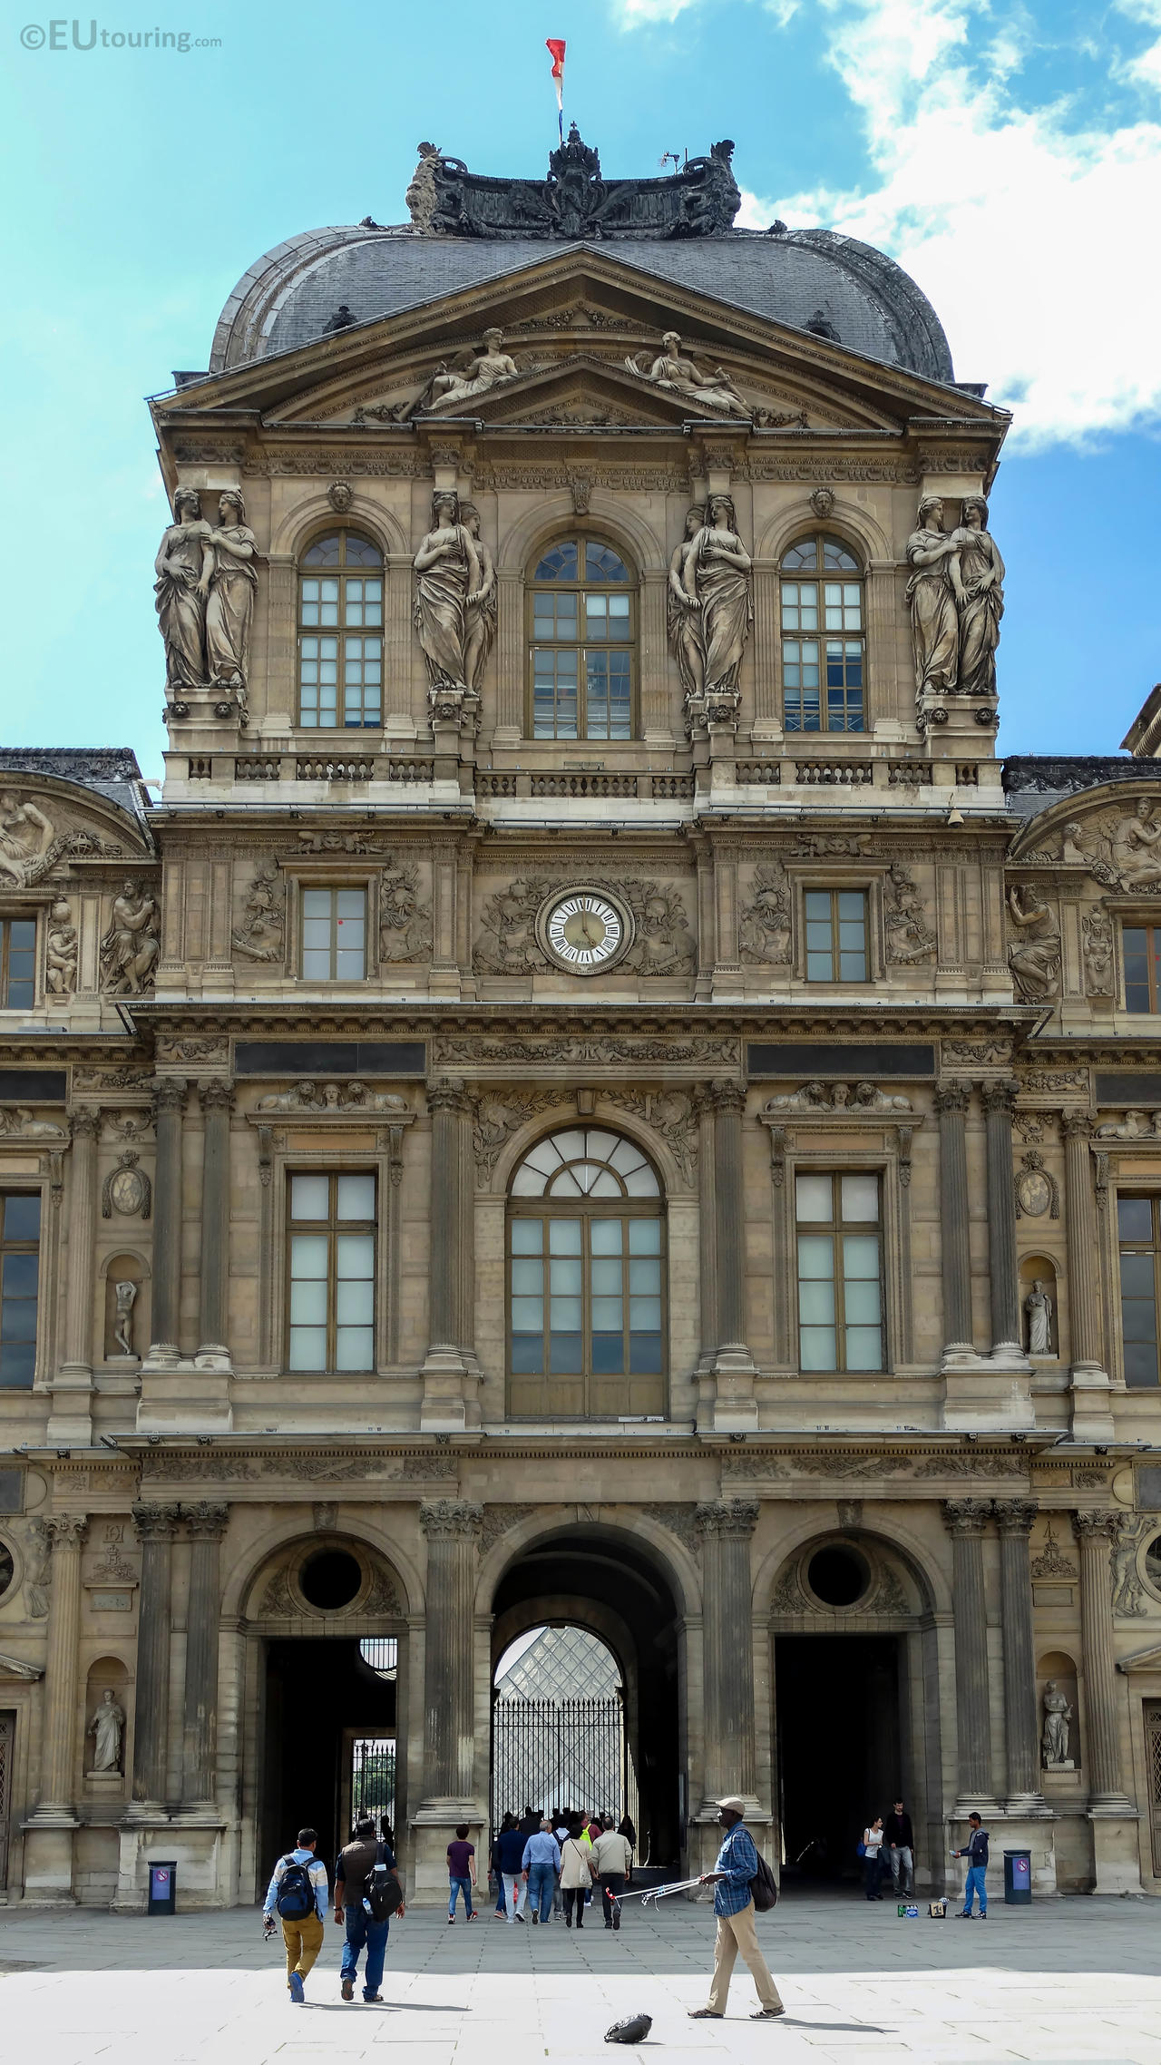
<path id="1" fill-rule="evenodd" d="M 636 595 L 620 553 L 585 535 L 550 545 L 529 611 L 533 739 L 630 739 Z"/>

